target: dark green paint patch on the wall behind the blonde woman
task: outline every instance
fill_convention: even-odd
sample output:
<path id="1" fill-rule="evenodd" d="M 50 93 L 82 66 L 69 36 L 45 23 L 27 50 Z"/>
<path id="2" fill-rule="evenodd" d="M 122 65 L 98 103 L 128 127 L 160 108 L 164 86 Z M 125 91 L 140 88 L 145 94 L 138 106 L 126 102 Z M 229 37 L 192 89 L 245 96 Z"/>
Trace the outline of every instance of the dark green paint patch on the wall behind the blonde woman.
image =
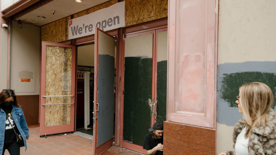
<path id="1" fill-rule="evenodd" d="M 237 107 L 235 101 L 237 100 L 236 96 L 239 94 L 239 87 L 250 82 L 262 82 L 264 84 L 267 84 L 271 88 L 274 95 L 274 108 L 276 104 L 276 75 L 274 73 L 248 71 L 223 74 L 223 80 L 221 82 L 221 98 L 228 102 L 228 105 L 230 107 Z"/>

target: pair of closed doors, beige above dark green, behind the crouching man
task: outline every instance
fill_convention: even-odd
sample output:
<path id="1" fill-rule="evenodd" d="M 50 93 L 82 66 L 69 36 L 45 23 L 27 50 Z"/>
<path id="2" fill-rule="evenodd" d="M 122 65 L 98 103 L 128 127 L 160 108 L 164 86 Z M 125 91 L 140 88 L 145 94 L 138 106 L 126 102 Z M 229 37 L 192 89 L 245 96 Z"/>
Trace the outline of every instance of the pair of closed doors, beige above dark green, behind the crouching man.
<path id="1" fill-rule="evenodd" d="M 166 121 L 167 28 L 124 36 L 122 147 L 146 154 L 144 137 Z"/>

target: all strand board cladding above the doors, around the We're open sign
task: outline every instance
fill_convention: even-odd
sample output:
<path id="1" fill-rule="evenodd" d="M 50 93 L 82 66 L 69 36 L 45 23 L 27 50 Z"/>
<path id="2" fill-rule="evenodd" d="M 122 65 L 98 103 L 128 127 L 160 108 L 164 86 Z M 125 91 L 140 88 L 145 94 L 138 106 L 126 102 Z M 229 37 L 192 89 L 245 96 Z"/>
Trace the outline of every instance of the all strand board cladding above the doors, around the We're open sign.
<path id="1" fill-rule="evenodd" d="M 124 0 L 125 26 L 131 26 L 168 17 L 168 0 Z M 87 15 L 117 3 L 111 0 L 75 13 L 74 18 Z M 42 41 L 61 42 L 68 40 L 68 21 L 70 16 L 41 26 Z"/>

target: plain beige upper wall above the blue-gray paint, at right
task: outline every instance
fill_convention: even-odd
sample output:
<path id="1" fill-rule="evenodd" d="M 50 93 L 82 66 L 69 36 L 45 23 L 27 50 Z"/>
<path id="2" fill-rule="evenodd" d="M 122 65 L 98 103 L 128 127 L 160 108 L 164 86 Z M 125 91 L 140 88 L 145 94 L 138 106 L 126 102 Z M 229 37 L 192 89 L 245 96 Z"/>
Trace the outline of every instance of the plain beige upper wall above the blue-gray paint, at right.
<path id="1" fill-rule="evenodd" d="M 218 64 L 276 61 L 275 15 L 275 0 L 221 0 Z"/>

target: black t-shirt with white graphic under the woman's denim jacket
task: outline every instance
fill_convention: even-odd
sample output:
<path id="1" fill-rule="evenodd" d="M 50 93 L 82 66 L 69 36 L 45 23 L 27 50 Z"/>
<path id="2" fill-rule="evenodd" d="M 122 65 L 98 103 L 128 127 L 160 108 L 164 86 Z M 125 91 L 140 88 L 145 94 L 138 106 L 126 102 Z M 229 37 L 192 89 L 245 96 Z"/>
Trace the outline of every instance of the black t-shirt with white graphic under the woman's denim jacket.
<path id="1" fill-rule="evenodd" d="M 12 106 L 2 106 L 1 108 L 5 111 L 9 121 L 11 122 L 11 124 L 10 124 L 6 117 L 4 144 L 11 143 L 16 139 L 16 135 L 15 135 L 12 127 L 14 127 L 15 131 L 18 131 L 16 124 L 14 122 L 14 117 L 12 117 L 12 115 L 11 115 Z"/>

